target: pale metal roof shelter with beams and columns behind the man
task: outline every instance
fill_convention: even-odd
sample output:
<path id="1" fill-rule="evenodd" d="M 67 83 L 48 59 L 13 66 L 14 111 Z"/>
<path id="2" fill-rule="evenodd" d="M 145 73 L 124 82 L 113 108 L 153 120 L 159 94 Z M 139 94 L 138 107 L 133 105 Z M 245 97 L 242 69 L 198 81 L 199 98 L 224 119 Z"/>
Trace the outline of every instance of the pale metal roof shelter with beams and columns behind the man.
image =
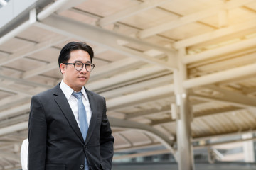
<path id="1" fill-rule="evenodd" d="M 114 159 L 169 152 L 193 170 L 193 149 L 255 132 L 255 0 L 11 0 L 0 16 L 0 169 L 20 166 L 30 98 L 61 81 L 71 40 L 95 50 L 86 87 L 107 99 L 114 151 L 165 147 Z"/>

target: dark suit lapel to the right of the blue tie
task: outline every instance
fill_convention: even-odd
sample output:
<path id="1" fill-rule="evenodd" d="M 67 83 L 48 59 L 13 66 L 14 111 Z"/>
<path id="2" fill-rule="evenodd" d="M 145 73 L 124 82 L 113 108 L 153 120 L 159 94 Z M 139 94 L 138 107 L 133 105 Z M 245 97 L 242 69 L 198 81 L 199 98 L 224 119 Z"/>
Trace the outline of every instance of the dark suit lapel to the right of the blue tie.
<path id="1" fill-rule="evenodd" d="M 87 96 L 88 96 L 88 99 L 89 99 L 89 103 L 90 103 L 90 108 L 91 108 L 91 111 L 92 111 L 92 118 L 90 120 L 90 125 L 89 125 L 89 128 L 88 128 L 88 131 L 87 131 L 87 137 L 86 137 L 86 140 L 85 140 L 85 143 L 87 143 L 90 139 L 90 136 L 92 135 L 92 131 L 95 129 L 95 125 L 96 125 L 96 122 L 97 122 L 97 107 L 96 107 L 96 102 L 95 101 L 95 98 L 93 97 L 93 94 L 88 91 L 87 89 L 85 89 L 86 93 L 87 93 Z"/>

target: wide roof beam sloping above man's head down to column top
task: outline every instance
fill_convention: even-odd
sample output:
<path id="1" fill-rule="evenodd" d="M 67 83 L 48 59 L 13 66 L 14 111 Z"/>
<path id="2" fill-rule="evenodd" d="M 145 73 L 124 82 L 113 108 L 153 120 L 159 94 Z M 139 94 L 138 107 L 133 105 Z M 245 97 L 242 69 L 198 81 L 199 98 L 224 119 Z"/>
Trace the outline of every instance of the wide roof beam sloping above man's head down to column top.
<path id="1" fill-rule="evenodd" d="M 110 30 L 105 30 L 102 28 L 91 26 L 86 23 L 73 21 L 63 16 L 52 15 L 44 19 L 43 21 L 36 23 L 36 25 L 46 30 L 53 31 L 55 33 L 60 33 L 66 36 L 68 35 L 78 40 L 87 40 L 87 42 L 107 47 L 108 49 L 114 52 L 118 52 L 122 55 L 127 55 L 128 57 L 134 57 L 139 60 L 143 60 L 144 62 L 161 64 L 163 67 L 169 69 L 176 69 L 176 52 L 166 47 L 154 45 L 143 40 L 132 38 L 127 35 L 122 35 L 119 33 L 114 33 Z M 163 62 L 154 57 L 144 55 L 141 52 L 136 52 L 134 50 L 128 49 L 127 47 L 122 47 L 122 45 L 119 45 L 120 41 L 130 42 L 137 45 L 142 45 L 149 49 L 158 50 L 168 55 L 170 61 Z"/>

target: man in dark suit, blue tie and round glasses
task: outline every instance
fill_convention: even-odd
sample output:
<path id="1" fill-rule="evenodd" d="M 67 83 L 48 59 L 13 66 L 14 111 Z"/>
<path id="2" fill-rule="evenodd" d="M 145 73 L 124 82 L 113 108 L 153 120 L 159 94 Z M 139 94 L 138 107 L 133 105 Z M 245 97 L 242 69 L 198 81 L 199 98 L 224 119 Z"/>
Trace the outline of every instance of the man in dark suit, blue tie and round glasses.
<path id="1" fill-rule="evenodd" d="M 114 137 L 105 98 L 84 87 L 92 57 L 85 42 L 69 42 L 58 58 L 63 81 L 31 98 L 28 170 L 111 169 Z"/>

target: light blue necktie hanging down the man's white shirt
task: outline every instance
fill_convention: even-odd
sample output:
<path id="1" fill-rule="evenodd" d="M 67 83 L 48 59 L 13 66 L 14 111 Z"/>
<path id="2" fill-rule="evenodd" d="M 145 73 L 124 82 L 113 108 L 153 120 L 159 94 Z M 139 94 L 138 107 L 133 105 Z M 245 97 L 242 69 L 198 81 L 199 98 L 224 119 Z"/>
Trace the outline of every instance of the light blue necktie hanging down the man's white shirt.
<path id="1" fill-rule="evenodd" d="M 73 96 L 75 96 L 75 98 L 78 98 L 78 118 L 79 118 L 79 124 L 80 124 L 80 131 L 82 132 L 82 137 L 85 140 L 87 131 L 88 131 L 88 123 L 87 123 L 85 106 L 82 103 L 82 92 L 78 92 L 78 93 L 73 92 Z M 85 170 L 87 169 L 89 169 L 89 167 L 87 165 L 87 161 L 85 158 Z"/>

